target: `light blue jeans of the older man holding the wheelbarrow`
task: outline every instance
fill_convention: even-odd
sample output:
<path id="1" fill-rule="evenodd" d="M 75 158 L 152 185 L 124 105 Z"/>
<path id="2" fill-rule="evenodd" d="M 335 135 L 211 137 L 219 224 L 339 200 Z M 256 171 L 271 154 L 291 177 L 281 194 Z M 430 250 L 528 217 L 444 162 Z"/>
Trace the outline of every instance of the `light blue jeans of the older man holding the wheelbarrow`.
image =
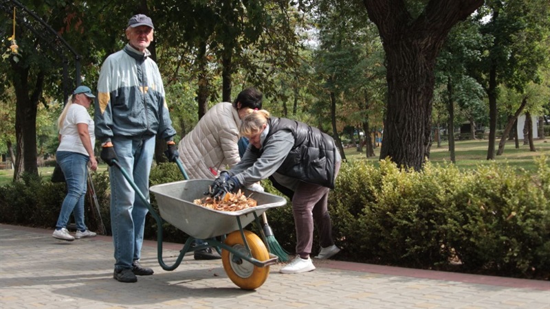
<path id="1" fill-rule="evenodd" d="M 155 152 L 155 137 L 129 139 L 111 138 L 118 157 L 117 161 L 126 170 L 137 188 L 149 200 L 149 174 Z M 115 249 L 115 269 L 131 268 L 140 260 L 146 203 L 133 190 L 130 183 L 116 167 L 109 168 L 111 180 L 111 231 Z"/>

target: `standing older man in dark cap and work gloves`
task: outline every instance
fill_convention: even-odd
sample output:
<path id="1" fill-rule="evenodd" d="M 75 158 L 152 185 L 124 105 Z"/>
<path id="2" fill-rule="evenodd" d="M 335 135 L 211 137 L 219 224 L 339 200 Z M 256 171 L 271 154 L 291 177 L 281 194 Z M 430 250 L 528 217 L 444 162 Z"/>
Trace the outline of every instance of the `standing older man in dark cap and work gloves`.
<path id="1" fill-rule="evenodd" d="M 132 16 L 126 27 L 128 44 L 107 57 L 98 80 L 96 137 L 102 143 L 101 159 L 111 166 L 113 277 L 119 282 L 137 282 L 136 275 L 153 275 L 153 270 L 140 265 L 148 209 L 122 172 L 112 166 L 120 163 L 148 198 L 155 136 L 166 141 L 170 161 L 178 156 L 162 78 L 147 50 L 154 29 L 148 16 Z"/>

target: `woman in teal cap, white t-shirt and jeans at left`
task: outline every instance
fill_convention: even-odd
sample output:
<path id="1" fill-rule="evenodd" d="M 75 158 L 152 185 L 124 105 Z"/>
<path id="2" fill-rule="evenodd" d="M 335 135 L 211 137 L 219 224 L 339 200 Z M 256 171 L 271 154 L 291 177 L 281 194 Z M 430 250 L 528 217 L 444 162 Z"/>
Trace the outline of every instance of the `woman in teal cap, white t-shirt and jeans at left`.
<path id="1" fill-rule="evenodd" d="M 89 231 L 84 224 L 87 164 L 89 162 L 91 170 L 98 168 L 98 161 L 94 156 L 94 120 L 88 113 L 94 98 L 96 96 L 88 87 L 79 86 L 73 91 L 57 120 L 59 146 L 56 161 L 65 174 L 67 196 L 61 205 L 56 230 L 52 236 L 61 240 L 73 241 L 75 238 L 96 236 L 96 233 Z M 67 222 L 73 211 L 77 229 L 75 236 L 67 231 Z"/>

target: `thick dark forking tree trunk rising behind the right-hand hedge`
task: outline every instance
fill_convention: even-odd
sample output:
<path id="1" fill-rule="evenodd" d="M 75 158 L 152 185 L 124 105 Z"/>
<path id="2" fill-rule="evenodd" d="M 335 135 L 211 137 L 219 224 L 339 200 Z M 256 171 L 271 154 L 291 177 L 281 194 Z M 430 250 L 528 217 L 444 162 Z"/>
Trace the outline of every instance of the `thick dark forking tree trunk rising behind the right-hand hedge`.
<path id="1" fill-rule="evenodd" d="M 414 20 L 406 1 L 364 0 L 386 52 L 388 103 L 380 159 L 420 170 L 429 156 L 434 65 L 450 29 L 483 0 L 428 1 Z"/>

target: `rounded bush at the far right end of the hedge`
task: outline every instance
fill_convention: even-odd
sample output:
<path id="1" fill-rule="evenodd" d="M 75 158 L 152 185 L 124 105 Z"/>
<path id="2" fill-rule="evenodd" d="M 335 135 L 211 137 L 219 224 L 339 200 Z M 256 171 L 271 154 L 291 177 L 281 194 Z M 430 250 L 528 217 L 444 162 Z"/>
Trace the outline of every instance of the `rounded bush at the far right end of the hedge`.
<path id="1" fill-rule="evenodd" d="M 463 268 L 502 275 L 550 271 L 550 203 L 540 189 L 528 174 L 503 165 L 479 166 L 463 177 L 454 196 L 461 229 L 449 239 Z"/>

